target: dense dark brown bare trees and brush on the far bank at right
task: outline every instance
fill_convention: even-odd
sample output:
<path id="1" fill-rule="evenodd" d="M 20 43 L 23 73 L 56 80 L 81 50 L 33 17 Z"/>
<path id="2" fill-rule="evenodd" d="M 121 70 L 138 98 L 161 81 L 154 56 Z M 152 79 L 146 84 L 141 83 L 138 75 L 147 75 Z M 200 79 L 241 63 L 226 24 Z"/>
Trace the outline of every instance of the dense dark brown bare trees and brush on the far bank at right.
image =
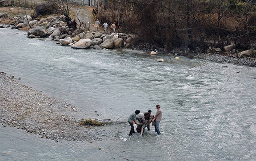
<path id="1" fill-rule="evenodd" d="M 95 12 L 101 22 L 116 22 L 120 31 L 167 51 L 256 46 L 255 0 L 105 0 Z"/>

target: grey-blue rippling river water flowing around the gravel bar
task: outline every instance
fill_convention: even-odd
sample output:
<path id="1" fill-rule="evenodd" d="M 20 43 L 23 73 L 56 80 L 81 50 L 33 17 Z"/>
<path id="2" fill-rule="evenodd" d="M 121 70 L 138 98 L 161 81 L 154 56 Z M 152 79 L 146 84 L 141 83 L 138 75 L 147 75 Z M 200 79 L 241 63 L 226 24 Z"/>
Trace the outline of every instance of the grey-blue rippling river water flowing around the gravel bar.
<path id="1" fill-rule="evenodd" d="M 255 67 L 128 49 L 75 50 L 25 34 L 0 28 L 0 71 L 76 106 L 78 118 L 126 121 L 137 109 L 155 114 L 160 104 L 162 135 L 152 128 L 128 137 L 127 124 L 109 126 L 120 137 L 56 142 L 0 126 L 0 160 L 256 160 Z"/>

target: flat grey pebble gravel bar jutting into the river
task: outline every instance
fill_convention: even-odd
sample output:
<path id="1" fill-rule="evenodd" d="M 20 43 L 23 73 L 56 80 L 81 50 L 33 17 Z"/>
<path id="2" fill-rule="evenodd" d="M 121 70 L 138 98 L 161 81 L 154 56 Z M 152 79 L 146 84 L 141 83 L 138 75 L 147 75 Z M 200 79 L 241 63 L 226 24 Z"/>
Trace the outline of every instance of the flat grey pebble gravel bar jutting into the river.
<path id="1" fill-rule="evenodd" d="M 100 141 L 115 137 L 105 126 L 80 126 L 77 108 L 20 84 L 20 79 L 0 72 L 0 123 L 54 141 Z M 85 114 L 86 115 L 86 114 Z"/>

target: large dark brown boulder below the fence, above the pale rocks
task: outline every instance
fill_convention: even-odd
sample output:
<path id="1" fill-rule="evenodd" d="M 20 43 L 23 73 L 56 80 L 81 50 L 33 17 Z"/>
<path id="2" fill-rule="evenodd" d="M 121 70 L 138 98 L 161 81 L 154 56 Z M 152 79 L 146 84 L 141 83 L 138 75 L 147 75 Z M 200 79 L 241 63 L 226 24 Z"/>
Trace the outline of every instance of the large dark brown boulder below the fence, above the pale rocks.
<path id="1" fill-rule="evenodd" d="M 34 15 L 51 15 L 58 13 L 59 9 L 58 6 L 54 3 L 44 3 L 44 4 L 38 4 L 34 10 Z"/>

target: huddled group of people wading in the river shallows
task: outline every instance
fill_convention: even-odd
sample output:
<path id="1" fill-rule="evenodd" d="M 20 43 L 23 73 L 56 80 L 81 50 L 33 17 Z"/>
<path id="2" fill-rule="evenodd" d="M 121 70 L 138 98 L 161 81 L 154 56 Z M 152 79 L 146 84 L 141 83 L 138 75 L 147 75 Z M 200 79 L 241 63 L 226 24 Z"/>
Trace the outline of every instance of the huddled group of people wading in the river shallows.
<path id="1" fill-rule="evenodd" d="M 152 126 L 155 127 L 155 132 L 160 135 L 159 130 L 159 124 L 160 121 L 162 121 L 162 110 L 160 108 L 160 105 L 156 105 L 156 115 L 151 115 L 152 111 L 148 110 L 148 112 L 140 113 L 140 110 L 136 110 L 135 113 L 130 114 L 128 118 L 128 123 L 131 126 L 130 133 L 128 134 L 131 136 L 132 134 L 135 134 L 134 126 L 133 124 L 137 125 L 136 131 L 137 133 L 140 133 L 140 136 L 143 135 L 145 128 L 147 127 L 148 131 L 150 130 L 150 124 L 152 123 Z"/>

